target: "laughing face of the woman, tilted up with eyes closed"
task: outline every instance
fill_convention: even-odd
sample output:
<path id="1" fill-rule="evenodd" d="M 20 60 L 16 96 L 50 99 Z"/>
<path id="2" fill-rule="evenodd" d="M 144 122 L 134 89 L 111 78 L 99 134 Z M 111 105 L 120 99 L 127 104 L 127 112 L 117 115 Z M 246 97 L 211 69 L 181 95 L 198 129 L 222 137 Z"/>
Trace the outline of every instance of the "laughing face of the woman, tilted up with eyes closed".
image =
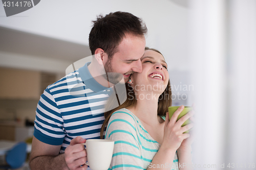
<path id="1" fill-rule="evenodd" d="M 141 57 L 142 72 L 134 72 L 131 79 L 135 91 L 154 90 L 162 93 L 169 80 L 167 64 L 161 54 L 146 50 Z"/>

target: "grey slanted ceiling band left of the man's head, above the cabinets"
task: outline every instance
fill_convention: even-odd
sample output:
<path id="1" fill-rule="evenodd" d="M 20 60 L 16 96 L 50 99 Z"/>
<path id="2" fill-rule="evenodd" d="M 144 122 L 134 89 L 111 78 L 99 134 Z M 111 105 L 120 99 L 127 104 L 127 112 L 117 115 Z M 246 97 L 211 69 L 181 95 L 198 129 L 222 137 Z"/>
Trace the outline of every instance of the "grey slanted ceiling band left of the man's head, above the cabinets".
<path id="1" fill-rule="evenodd" d="M 91 56 L 88 45 L 0 27 L 0 51 L 75 62 Z"/>

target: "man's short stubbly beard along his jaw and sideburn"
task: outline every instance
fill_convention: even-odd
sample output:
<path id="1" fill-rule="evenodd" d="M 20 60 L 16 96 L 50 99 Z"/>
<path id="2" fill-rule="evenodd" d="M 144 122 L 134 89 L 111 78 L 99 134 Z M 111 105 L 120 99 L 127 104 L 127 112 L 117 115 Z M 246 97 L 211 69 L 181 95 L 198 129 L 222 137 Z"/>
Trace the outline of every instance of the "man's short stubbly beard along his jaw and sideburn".
<path id="1" fill-rule="evenodd" d="M 106 61 L 104 65 L 104 69 L 105 69 L 105 72 L 102 76 L 105 80 L 113 84 L 117 84 L 122 80 L 123 75 L 118 72 L 115 72 L 115 70 L 112 68 L 112 62 L 110 59 Z"/>

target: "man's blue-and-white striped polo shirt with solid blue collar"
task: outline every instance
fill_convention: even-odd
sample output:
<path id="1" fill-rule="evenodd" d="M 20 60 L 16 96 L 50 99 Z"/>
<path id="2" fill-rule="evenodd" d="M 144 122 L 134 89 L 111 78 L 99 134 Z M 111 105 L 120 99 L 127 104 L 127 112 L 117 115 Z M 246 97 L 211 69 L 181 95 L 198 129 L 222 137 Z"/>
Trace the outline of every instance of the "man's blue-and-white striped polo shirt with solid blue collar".
<path id="1" fill-rule="evenodd" d="M 113 89 L 93 79 L 89 64 L 49 85 L 37 104 L 34 136 L 44 143 L 62 145 L 60 153 L 77 136 L 100 138 L 104 105 Z"/>

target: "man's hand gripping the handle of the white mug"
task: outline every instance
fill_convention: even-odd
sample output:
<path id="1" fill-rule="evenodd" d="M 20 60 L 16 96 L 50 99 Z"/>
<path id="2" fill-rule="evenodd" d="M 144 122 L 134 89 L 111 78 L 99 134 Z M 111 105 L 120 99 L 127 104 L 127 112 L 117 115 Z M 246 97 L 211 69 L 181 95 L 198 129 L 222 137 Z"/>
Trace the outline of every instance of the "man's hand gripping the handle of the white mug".
<path id="1" fill-rule="evenodd" d="M 70 170 L 87 169 L 85 164 L 87 161 L 86 149 L 84 145 L 86 139 L 78 136 L 71 140 L 70 145 L 65 150 L 65 161 Z"/>

